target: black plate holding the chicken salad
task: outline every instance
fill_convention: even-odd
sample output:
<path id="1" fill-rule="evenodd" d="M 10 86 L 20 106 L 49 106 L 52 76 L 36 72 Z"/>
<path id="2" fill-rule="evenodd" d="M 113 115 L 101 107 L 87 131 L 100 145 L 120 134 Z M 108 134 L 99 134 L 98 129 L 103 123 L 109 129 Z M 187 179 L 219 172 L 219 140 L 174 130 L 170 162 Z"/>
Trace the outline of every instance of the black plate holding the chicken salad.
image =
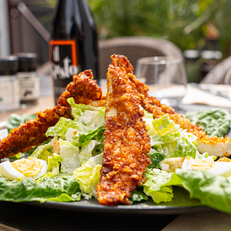
<path id="1" fill-rule="evenodd" d="M 182 106 L 177 111 L 184 114 L 186 111 L 203 111 L 212 107 L 204 105 L 190 105 Z M 229 111 L 230 112 L 230 111 Z M 0 133 L 0 139 L 3 134 Z M 6 134 L 4 132 L 4 134 Z M 228 134 L 231 136 L 231 130 Z M 136 203 L 133 205 L 119 205 L 119 206 L 103 206 L 98 203 L 96 199 L 81 200 L 79 202 L 23 202 L 39 207 L 47 207 L 54 209 L 62 209 L 69 211 L 82 211 L 82 212 L 102 212 L 102 213 L 124 213 L 124 214 L 181 214 L 193 212 L 206 212 L 214 209 L 200 205 L 200 201 L 190 199 L 188 192 L 180 187 L 174 188 L 174 197 L 171 202 L 155 204 L 151 199 L 146 202 Z"/>

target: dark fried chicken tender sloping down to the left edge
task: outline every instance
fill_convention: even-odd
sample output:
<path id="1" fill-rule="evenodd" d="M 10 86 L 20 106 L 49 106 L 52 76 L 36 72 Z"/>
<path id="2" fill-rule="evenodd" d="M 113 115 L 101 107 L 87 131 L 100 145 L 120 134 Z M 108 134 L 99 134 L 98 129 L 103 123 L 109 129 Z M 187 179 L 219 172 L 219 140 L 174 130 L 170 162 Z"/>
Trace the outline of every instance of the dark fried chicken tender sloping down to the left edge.
<path id="1" fill-rule="evenodd" d="M 97 86 L 91 70 L 86 70 L 73 77 L 66 91 L 59 97 L 58 105 L 52 109 L 38 112 L 35 120 L 27 121 L 2 141 L 0 140 L 0 159 L 25 152 L 38 146 L 48 139 L 46 131 L 54 126 L 61 117 L 72 118 L 71 108 L 67 99 L 73 97 L 76 103 L 91 104 L 92 100 L 100 99 L 101 88 Z"/>

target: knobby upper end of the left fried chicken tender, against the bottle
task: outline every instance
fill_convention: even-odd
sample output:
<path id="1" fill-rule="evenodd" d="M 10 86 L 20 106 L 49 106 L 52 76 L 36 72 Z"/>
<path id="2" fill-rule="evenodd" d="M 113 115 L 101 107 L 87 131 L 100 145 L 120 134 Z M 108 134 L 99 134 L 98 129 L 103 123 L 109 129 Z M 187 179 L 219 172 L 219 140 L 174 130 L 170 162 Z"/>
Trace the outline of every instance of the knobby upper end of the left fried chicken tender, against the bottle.
<path id="1" fill-rule="evenodd" d="M 70 107 L 67 99 L 73 97 L 75 103 L 91 104 L 92 100 L 99 100 L 102 90 L 93 79 L 91 70 L 86 70 L 73 76 L 73 82 L 69 83 L 66 90 L 58 99 L 58 105 Z"/>

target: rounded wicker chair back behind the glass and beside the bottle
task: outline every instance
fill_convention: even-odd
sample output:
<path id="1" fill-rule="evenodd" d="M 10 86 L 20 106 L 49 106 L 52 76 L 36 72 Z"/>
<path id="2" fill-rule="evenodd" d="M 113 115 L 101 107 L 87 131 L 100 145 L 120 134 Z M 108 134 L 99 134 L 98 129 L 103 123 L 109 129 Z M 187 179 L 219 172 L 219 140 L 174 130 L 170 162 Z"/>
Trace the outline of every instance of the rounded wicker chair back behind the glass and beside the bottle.
<path id="1" fill-rule="evenodd" d="M 131 64 L 142 57 L 173 56 L 183 59 L 181 50 L 172 42 L 147 37 L 119 37 L 99 41 L 99 74 L 106 78 L 112 54 L 125 55 Z"/>

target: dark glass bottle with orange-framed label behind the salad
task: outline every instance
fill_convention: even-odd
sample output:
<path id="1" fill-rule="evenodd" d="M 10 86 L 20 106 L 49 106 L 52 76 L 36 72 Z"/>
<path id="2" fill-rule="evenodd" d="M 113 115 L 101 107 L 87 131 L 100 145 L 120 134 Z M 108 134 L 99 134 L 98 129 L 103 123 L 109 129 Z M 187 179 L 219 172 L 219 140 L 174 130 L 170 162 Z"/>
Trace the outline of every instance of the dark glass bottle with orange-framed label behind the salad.
<path id="1" fill-rule="evenodd" d="M 55 103 L 74 74 L 92 69 L 98 81 L 97 29 L 87 0 L 58 0 L 49 50 Z"/>

